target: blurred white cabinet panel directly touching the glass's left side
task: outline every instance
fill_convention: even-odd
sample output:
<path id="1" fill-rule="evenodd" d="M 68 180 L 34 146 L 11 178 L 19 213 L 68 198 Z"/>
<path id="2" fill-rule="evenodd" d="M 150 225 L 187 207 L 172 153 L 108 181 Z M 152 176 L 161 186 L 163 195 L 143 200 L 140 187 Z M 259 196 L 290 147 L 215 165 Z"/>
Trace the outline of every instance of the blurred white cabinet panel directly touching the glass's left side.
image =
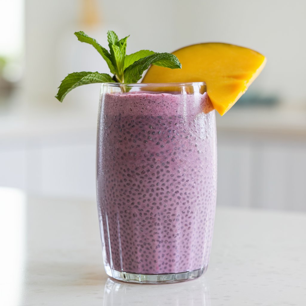
<path id="1" fill-rule="evenodd" d="M 44 195 L 95 198 L 95 143 L 43 147 L 41 173 Z"/>

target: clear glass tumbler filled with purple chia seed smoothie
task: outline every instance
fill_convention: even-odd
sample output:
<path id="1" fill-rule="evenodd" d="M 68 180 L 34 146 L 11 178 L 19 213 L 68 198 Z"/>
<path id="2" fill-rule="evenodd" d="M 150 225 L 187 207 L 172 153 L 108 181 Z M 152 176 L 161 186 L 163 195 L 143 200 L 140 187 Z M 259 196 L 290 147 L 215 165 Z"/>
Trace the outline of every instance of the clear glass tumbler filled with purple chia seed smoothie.
<path id="1" fill-rule="evenodd" d="M 217 139 L 205 83 L 103 84 L 96 174 L 110 277 L 171 283 L 207 269 Z"/>

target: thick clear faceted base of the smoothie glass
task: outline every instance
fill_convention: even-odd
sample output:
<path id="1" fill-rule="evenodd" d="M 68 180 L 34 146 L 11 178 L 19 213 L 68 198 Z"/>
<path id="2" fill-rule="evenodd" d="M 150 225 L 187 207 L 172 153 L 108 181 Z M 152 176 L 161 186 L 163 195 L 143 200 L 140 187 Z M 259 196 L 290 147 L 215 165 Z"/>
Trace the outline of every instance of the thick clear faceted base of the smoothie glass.
<path id="1" fill-rule="evenodd" d="M 110 269 L 108 276 L 122 282 L 138 283 L 138 284 L 165 284 L 185 282 L 189 279 L 200 277 L 207 270 L 207 266 L 198 270 L 187 271 L 182 273 L 167 274 L 135 274 L 128 272 L 120 272 Z"/>

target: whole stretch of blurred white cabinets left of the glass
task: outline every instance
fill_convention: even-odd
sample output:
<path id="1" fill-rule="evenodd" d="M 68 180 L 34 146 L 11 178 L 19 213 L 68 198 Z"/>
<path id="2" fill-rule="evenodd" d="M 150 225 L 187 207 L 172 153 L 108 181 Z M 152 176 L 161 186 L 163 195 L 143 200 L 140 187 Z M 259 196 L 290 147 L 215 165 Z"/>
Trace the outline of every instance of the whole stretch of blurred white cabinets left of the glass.
<path id="1" fill-rule="evenodd" d="M 0 144 L 0 186 L 30 194 L 95 199 L 95 130 Z"/>

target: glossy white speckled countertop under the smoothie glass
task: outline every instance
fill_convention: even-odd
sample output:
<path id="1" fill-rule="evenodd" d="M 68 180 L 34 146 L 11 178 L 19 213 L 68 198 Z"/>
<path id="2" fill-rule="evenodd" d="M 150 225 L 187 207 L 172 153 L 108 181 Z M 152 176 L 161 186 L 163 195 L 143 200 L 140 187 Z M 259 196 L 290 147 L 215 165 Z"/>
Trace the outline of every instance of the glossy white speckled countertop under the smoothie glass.
<path id="1" fill-rule="evenodd" d="M 218 207 L 203 276 L 127 284 L 104 272 L 94 202 L 0 188 L 0 305 L 305 305 L 305 233 L 304 213 Z"/>

